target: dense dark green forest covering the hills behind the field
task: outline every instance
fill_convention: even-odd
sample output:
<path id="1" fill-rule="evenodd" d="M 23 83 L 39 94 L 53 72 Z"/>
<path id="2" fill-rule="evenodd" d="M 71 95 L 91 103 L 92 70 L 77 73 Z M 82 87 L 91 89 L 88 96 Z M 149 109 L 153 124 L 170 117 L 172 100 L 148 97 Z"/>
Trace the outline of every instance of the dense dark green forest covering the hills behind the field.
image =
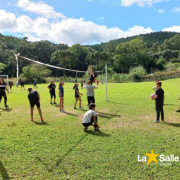
<path id="1" fill-rule="evenodd" d="M 163 71 L 168 64 L 180 63 L 180 34 L 172 32 L 154 32 L 112 40 L 99 45 L 82 46 L 75 44 L 54 44 L 49 41 L 29 42 L 25 38 L 15 38 L 0 34 L 0 73 L 16 76 L 14 53 L 43 63 L 59 67 L 86 71 L 91 63 L 95 70 L 108 67 L 114 73 L 129 73 L 137 66 L 142 66 L 147 73 Z M 22 77 L 30 79 L 42 76 L 72 76 L 74 72 L 40 67 L 19 58 Z M 78 76 L 82 76 L 79 73 Z M 33 77 L 34 76 L 34 77 Z"/>

